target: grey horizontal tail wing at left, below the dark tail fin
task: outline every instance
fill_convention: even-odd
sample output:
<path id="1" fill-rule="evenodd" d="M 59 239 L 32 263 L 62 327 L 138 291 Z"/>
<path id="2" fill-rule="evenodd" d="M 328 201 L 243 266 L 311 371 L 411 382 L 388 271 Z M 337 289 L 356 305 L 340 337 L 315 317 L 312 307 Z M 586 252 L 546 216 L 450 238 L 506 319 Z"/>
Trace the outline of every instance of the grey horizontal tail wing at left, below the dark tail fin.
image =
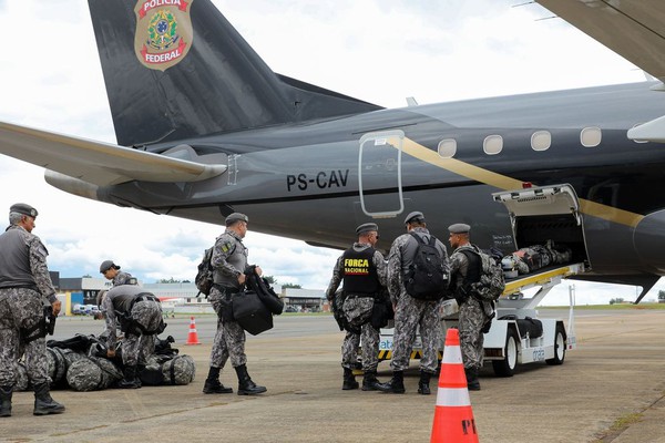
<path id="1" fill-rule="evenodd" d="M 188 156 L 196 154 L 190 147 Z M 131 181 L 198 182 L 226 165 L 203 164 L 0 122 L 0 154 L 96 186 Z"/>

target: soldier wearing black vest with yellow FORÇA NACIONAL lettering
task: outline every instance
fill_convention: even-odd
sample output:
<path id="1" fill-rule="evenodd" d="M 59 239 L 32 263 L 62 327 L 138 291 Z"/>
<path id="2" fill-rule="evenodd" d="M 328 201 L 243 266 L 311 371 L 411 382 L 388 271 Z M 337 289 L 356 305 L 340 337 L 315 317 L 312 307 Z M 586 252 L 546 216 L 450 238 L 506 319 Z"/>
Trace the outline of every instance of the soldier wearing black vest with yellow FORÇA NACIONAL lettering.
<path id="1" fill-rule="evenodd" d="M 332 301 L 335 291 L 344 280 L 342 311 L 350 326 L 341 344 L 341 367 L 344 368 L 342 390 L 358 389 L 354 377 L 357 350 L 362 338 L 362 378 L 364 391 L 376 391 L 377 367 L 379 364 L 379 330 L 371 322 L 375 301 L 381 297 L 381 287 L 386 286 L 386 260 L 374 246 L 379 240 L 379 227 L 366 223 L 356 228 L 358 241 L 347 249 L 335 264 L 332 278 L 326 290 L 326 297 Z M 360 333 L 358 332 L 360 330 Z"/>

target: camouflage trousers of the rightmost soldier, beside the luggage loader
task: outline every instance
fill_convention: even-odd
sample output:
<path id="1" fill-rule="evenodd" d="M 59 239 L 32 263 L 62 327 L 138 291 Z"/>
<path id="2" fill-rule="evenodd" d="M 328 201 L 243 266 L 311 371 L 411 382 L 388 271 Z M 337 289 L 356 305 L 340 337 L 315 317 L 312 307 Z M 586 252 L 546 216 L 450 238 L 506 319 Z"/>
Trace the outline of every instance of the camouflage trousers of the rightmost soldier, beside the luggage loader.
<path id="1" fill-rule="evenodd" d="M 481 330 L 487 319 L 482 305 L 473 297 L 469 297 L 460 306 L 458 329 L 464 368 L 480 369 L 482 367 L 484 336 Z"/>

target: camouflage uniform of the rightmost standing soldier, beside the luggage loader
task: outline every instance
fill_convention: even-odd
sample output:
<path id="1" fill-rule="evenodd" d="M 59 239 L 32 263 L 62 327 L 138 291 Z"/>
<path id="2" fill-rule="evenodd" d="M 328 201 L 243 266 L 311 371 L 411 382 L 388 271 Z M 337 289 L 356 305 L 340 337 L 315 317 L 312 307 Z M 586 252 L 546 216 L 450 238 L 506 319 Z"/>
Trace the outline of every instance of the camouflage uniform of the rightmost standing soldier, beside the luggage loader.
<path id="1" fill-rule="evenodd" d="M 469 259 L 461 253 L 463 249 L 480 251 L 478 246 L 467 244 L 457 248 L 450 256 L 450 276 L 459 289 L 469 272 Z M 466 369 L 480 369 L 483 363 L 483 334 L 482 327 L 488 321 L 483 302 L 470 295 L 460 303 L 459 332 L 460 349 Z"/>

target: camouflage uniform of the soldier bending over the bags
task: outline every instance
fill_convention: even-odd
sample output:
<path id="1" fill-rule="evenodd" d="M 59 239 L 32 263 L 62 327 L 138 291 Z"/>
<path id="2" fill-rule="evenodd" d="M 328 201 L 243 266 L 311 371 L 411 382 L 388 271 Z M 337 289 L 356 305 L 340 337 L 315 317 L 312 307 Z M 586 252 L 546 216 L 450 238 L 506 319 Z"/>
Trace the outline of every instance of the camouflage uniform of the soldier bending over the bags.
<path id="1" fill-rule="evenodd" d="M 139 286 L 116 286 L 106 292 L 102 301 L 102 310 L 106 313 L 106 346 L 115 349 L 116 321 L 121 328 L 124 320 L 119 316 L 131 316 L 131 319 L 141 324 L 147 333 L 137 331 L 125 332 L 122 341 L 122 362 L 125 367 L 145 364 L 147 357 L 154 352 L 155 334 L 150 332 L 163 329 L 162 305 L 150 292 Z"/>

